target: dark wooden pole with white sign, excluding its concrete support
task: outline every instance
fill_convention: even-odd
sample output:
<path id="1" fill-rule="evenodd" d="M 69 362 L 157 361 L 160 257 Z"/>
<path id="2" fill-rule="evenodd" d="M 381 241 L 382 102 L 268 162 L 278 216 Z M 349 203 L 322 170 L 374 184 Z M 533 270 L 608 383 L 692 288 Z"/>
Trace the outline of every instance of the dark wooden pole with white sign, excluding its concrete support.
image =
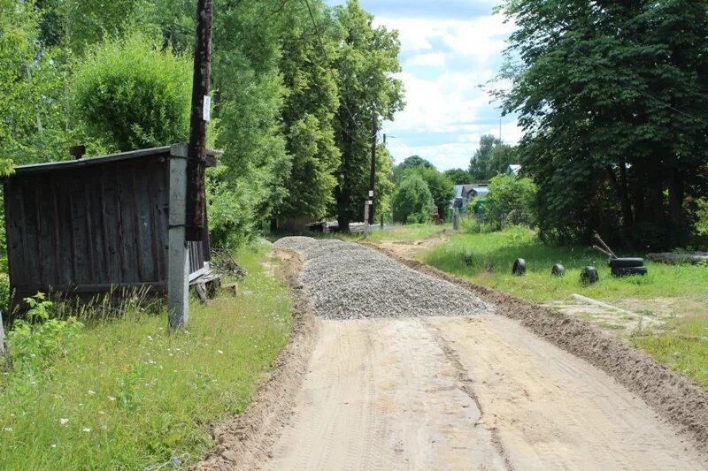
<path id="1" fill-rule="evenodd" d="M 212 0 L 197 0 L 194 82 L 187 164 L 187 240 L 204 239 L 206 123 L 211 118 Z"/>

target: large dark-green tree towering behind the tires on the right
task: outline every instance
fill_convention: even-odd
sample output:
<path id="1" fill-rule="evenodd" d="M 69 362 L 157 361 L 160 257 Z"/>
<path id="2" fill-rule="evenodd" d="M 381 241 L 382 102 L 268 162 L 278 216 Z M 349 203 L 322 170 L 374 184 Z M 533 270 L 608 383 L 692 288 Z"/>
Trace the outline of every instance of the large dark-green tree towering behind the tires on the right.
<path id="1" fill-rule="evenodd" d="M 613 239 L 681 243 L 682 202 L 708 158 L 705 3 L 509 0 L 501 11 L 518 29 L 500 74 L 512 87 L 497 96 L 519 113 L 543 232 L 584 239 L 617 215 Z"/>

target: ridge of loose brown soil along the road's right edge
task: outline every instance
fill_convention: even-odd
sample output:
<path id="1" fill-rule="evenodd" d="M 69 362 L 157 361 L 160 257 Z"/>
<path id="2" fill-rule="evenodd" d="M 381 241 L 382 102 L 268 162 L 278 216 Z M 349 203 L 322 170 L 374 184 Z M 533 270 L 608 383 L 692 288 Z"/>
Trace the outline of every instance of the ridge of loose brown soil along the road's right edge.
<path id="1" fill-rule="evenodd" d="M 689 378 L 590 323 L 505 292 L 475 285 L 425 263 L 402 257 L 378 244 L 359 243 L 388 255 L 412 270 L 442 278 L 473 292 L 481 300 L 494 305 L 497 315 L 518 321 L 539 338 L 602 369 L 643 399 L 682 435 L 689 437 L 704 459 L 708 460 L 708 392 Z"/>

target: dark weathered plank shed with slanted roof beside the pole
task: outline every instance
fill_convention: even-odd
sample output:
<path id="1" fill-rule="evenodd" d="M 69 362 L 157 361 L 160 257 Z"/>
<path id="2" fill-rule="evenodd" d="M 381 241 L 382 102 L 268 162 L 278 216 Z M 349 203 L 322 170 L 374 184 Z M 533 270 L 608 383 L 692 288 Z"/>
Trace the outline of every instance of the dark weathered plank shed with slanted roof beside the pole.
<path id="1" fill-rule="evenodd" d="M 38 163 L 4 179 L 12 304 L 36 292 L 167 289 L 174 145 Z M 216 163 L 208 153 L 207 165 Z M 173 177 L 173 176 L 172 176 Z M 208 233 L 189 242 L 189 280 L 208 271 Z"/>

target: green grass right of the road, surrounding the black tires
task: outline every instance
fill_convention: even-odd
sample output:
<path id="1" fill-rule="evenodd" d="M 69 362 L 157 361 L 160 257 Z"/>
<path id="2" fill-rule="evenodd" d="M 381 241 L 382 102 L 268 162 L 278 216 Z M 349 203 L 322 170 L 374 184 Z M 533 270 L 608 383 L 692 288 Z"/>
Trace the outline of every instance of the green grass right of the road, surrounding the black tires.
<path id="1" fill-rule="evenodd" d="M 465 254 L 472 255 L 470 266 L 465 263 Z M 516 258 L 526 260 L 523 277 L 512 275 Z M 642 301 L 678 300 L 672 303 L 673 318 L 666 324 L 634 331 L 627 340 L 708 389 L 708 267 L 646 262 L 646 277 L 614 278 L 606 258 L 591 248 L 546 246 L 523 227 L 451 235 L 443 245 L 420 254 L 419 260 L 478 285 L 535 302 L 568 300 L 573 292 L 610 303 L 636 300 L 640 306 Z M 494 265 L 491 272 L 486 270 L 489 262 Z M 564 277 L 550 275 L 554 263 L 565 265 Z M 596 267 L 600 281 L 595 285 L 581 284 L 580 272 L 585 265 Z M 635 312 L 653 315 L 641 307 Z M 620 330 L 618 324 L 587 317 L 605 330 Z"/>

